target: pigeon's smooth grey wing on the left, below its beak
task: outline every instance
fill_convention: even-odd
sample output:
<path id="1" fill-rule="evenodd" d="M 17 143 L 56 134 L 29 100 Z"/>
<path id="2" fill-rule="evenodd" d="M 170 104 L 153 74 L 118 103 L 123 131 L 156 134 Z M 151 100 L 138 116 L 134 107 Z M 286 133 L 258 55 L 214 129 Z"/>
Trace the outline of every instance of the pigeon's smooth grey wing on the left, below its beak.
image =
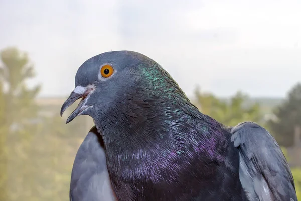
<path id="1" fill-rule="evenodd" d="M 79 147 L 71 174 L 70 201 L 113 201 L 103 141 L 93 127 Z"/>

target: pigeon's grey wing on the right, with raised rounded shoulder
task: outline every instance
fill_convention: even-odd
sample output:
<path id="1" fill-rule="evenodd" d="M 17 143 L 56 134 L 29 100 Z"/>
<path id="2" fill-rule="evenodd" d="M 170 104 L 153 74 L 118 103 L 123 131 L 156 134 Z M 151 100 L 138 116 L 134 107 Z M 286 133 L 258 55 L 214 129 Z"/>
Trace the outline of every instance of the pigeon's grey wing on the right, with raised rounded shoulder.
<path id="1" fill-rule="evenodd" d="M 263 127 L 244 122 L 231 129 L 239 150 L 239 177 L 249 200 L 297 201 L 293 177 L 276 140 Z"/>

